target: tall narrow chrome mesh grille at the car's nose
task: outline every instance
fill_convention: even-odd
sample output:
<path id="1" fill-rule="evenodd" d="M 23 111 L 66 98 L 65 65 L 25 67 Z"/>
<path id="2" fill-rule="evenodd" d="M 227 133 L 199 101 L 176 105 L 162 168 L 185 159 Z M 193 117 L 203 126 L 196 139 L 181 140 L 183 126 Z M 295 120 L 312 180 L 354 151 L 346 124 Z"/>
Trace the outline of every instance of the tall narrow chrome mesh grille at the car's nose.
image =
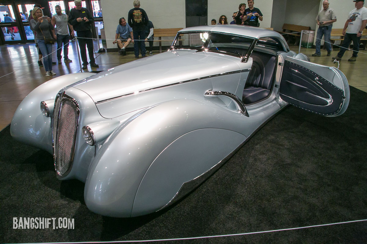
<path id="1" fill-rule="evenodd" d="M 54 106 L 52 127 L 55 170 L 65 176 L 71 169 L 79 121 L 77 102 L 65 93 L 58 94 Z"/>

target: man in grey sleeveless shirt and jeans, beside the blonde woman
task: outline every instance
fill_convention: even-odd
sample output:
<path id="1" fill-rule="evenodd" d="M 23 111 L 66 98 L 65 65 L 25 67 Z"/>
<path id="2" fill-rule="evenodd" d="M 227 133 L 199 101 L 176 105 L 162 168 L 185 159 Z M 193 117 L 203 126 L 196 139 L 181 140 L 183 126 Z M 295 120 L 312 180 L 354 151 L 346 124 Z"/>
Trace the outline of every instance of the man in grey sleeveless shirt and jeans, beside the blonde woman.
<path id="1" fill-rule="evenodd" d="M 68 15 L 63 14 L 61 12 L 60 5 L 55 6 L 56 14 L 52 16 L 51 25 L 56 25 L 56 33 L 55 30 L 52 30 L 52 34 L 54 35 L 55 40 L 57 40 L 57 60 L 58 63 L 61 64 L 61 51 L 62 46 L 64 47 L 64 62 L 72 62 L 69 59 L 69 28 L 68 28 Z M 69 24 L 71 35 L 74 37 L 74 29 L 73 26 Z"/>

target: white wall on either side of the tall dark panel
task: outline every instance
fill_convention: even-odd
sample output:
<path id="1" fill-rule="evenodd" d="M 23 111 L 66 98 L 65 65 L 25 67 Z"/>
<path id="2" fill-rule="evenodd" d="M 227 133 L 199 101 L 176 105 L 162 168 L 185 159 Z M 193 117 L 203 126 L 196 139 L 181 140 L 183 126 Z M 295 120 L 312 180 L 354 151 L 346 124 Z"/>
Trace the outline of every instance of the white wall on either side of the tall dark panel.
<path id="1" fill-rule="evenodd" d="M 121 17 L 127 19 L 128 11 L 133 8 L 132 0 L 103 0 L 101 1 L 103 22 L 107 39 L 115 38 L 116 26 Z M 243 2 L 243 1 L 242 1 Z M 247 1 L 244 1 L 247 3 Z M 259 8 L 264 15 L 261 27 L 270 27 L 273 0 L 256 0 L 255 7 Z M 150 20 L 152 20 L 155 28 L 185 28 L 185 1 L 172 0 L 141 0 L 141 8 L 143 8 Z M 240 1 L 227 0 L 208 0 L 208 23 L 211 19 L 218 21 L 220 15 L 226 15 L 229 22 L 232 21 L 232 14 L 238 11 Z M 162 38 L 163 39 L 163 38 Z M 172 37 L 166 38 L 170 40 Z M 170 45 L 172 42 L 163 42 L 163 46 Z M 155 43 L 155 45 L 158 45 Z M 112 40 L 107 41 L 107 49 L 116 48 L 112 44 Z"/>

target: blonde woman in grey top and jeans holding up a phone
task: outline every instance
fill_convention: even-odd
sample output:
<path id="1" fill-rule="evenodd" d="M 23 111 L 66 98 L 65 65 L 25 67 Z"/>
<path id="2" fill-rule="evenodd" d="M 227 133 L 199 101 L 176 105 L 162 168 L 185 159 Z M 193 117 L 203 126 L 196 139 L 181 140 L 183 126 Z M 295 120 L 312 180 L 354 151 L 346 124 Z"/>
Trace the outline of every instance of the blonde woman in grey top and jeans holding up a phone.
<path id="1" fill-rule="evenodd" d="M 33 19 L 30 20 L 33 31 L 36 31 L 36 39 L 38 47 L 43 55 L 43 63 L 46 70 L 46 76 L 56 75 L 52 71 L 52 44 L 46 44 L 46 39 L 50 39 L 50 31 L 54 29 L 51 25 L 50 17 L 42 17 L 43 11 L 39 7 L 33 8 L 32 11 Z"/>

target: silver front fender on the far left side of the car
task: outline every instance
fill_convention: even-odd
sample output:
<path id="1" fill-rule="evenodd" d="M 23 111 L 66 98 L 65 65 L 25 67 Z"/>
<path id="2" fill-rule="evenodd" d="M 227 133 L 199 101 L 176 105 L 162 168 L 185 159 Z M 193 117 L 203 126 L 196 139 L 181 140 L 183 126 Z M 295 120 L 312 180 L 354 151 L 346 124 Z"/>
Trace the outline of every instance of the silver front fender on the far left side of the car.
<path id="1" fill-rule="evenodd" d="M 40 110 L 40 102 L 54 100 L 62 88 L 93 73 L 76 73 L 49 80 L 31 91 L 19 104 L 10 125 L 11 136 L 25 144 L 39 147 L 52 153 L 51 119 Z"/>

